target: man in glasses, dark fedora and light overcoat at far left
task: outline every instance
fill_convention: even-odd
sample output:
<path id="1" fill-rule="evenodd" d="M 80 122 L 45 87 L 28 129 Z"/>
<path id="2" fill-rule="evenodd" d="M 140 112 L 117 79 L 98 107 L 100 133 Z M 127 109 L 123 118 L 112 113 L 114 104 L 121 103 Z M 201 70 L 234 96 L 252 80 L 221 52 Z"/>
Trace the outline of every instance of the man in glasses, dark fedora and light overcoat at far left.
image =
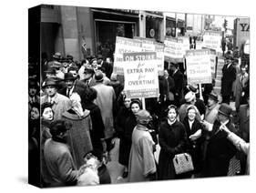
<path id="1" fill-rule="evenodd" d="M 71 101 L 67 96 L 57 93 L 57 83 L 55 79 L 48 78 L 42 85 L 46 95 L 41 96 L 41 104 L 51 103 L 54 111 L 54 120 L 61 119 L 62 114 L 71 108 Z"/>

